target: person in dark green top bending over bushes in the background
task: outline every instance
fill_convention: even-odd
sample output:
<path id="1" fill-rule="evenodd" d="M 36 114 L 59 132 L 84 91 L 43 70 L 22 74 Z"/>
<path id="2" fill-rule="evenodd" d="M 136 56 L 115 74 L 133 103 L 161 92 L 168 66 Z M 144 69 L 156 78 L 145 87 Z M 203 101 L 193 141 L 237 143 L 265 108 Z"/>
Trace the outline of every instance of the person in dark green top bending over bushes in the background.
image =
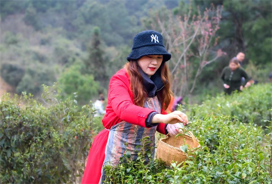
<path id="1" fill-rule="evenodd" d="M 245 78 L 245 83 L 247 83 L 249 77 L 240 67 L 238 59 L 234 57 L 229 61 L 228 67 L 225 67 L 221 74 L 225 93 L 230 95 L 235 90 L 242 91 L 244 87 L 241 82 L 242 77 Z"/>

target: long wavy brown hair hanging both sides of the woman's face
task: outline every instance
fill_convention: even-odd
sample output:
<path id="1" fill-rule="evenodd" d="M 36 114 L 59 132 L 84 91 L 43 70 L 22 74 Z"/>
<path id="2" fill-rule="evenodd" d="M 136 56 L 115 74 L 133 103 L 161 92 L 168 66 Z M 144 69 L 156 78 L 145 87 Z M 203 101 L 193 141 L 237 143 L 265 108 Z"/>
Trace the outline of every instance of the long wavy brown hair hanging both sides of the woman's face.
<path id="1" fill-rule="evenodd" d="M 138 72 L 138 63 L 137 61 L 130 61 L 124 66 L 126 72 L 130 76 L 131 81 L 131 90 L 133 92 L 134 103 L 137 106 L 143 107 L 144 101 L 147 97 L 147 92 L 143 87 L 143 79 L 141 74 Z M 172 77 L 170 75 L 170 71 L 165 62 L 162 62 L 161 66 L 161 78 L 164 83 L 164 87 L 158 91 L 157 96 L 159 101 L 162 103 L 162 109 L 166 110 L 170 104 L 171 96 L 173 96 L 173 92 L 171 91 L 171 82 Z"/>

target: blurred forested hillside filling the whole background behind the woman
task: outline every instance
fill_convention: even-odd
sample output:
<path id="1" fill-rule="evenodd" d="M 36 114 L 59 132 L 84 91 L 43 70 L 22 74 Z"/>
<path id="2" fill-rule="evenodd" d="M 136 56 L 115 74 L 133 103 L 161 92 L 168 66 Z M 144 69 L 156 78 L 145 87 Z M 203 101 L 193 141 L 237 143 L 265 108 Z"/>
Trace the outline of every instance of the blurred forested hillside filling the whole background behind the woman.
<path id="1" fill-rule="evenodd" d="M 155 29 L 174 39 L 181 30 L 178 23 L 189 16 L 189 37 L 197 17 L 204 17 L 207 9 L 203 25 L 214 18 L 218 25 L 210 28 L 214 32 L 208 34 L 205 57 L 199 55 L 203 45 L 198 41 L 204 40 L 208 27 L 201 28 L 189 45 L 182 58 L 187 58 L 186 65 L 178 61 L 184 45 L 165 40 L 173 56 L 170 69 L 178 78 L 175 94 L 221 92 L 219 75 L 238 51 L 246 54 L 247 72 L 267 81 L 272 68 L 272 3 L 267 0 L 0 0 L 0 76 L 12 87 L 9 91 L 37 97 L 42 84 L 57 81 L 63 97 L 76 92 L 85 104 L 97 97 L 97 91 L 107 93 L 109 78 L 126 62 L 136 33 Z M 219 50 L 225 53 L 222 57 L 216 56 Z M 198 66 L 215 57 L 194 81 Z M 189 76 L 183 81 L 185 73 Z"/>

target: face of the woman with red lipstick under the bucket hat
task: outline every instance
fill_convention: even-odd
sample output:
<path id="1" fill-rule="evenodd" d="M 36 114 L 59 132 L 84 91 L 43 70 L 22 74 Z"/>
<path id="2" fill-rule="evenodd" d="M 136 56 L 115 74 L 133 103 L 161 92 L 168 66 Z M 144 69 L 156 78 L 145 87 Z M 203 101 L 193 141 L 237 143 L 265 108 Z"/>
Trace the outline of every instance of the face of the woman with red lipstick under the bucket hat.
<path id="1" fill-rule="evenodd" d="M 148 55 L 143 56 L 138 59 L 138 65 L 140 66 L 141 70 L 151 76 L 157 72 L 162 64 L 162 55 Z"/>

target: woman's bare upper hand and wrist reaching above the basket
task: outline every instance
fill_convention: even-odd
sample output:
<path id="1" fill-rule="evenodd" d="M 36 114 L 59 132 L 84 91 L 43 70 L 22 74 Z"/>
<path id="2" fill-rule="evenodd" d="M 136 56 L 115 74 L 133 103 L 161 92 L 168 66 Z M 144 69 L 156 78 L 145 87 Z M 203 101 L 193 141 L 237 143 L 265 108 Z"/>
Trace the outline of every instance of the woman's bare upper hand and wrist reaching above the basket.
<path id="1" fill-rule="evenodd" d="M 169 114 L 155 114 L 151 120 L 151 123 L 164 123 L 164 124 L 176 124 L 183 123 L 185 126 L 188 124 L 188 117 L 180 110 L 175 110 Z"/>

